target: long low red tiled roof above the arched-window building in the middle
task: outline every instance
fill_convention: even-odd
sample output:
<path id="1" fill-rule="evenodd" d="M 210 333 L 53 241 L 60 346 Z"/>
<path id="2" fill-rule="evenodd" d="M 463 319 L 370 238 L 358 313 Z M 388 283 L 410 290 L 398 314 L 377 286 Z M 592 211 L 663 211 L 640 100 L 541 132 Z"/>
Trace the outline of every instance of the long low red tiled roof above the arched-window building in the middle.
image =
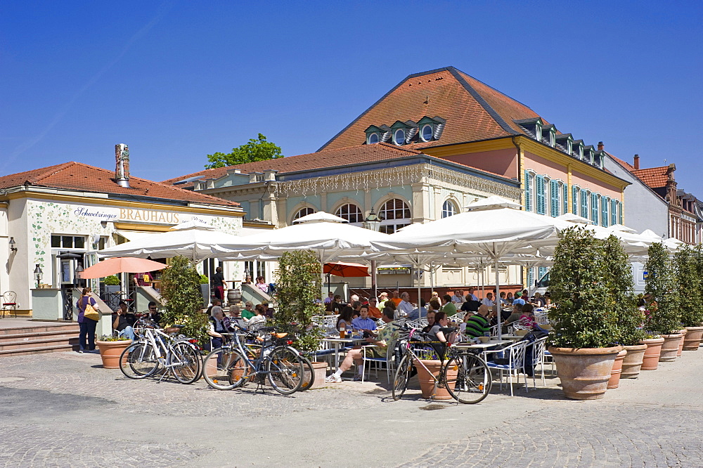
<path id="1" fill-rule="evenodd" d="M 366 162 L 394 160 L 400 157 L 421 155 L 422 152 L 411 148 L 402 148 L 387 143 L 378 145 L 355 145 L 349 148 L 335 148 L 333 150 L 323 150 L 311 152 L 307 155 L 297 155 L 280 157 L 275 160 L 247 162 L 236 166 L 218 167 L 217 169 L 205 169 L 186 176 L 170 178 L 163 183 L 177 183 L 189 178 L 221 178 L 227 175 L 228 171 L 239 169 L 243 174 L 252 172 L 263 172 L 275 170 L 279 173 L 304 171 L 309 169 L 322 169 L 324 167 L 344 166 L 347 164 L 363 164 Z M 192 181 L 179 184 L 179 187 L 191 187 Z"/>

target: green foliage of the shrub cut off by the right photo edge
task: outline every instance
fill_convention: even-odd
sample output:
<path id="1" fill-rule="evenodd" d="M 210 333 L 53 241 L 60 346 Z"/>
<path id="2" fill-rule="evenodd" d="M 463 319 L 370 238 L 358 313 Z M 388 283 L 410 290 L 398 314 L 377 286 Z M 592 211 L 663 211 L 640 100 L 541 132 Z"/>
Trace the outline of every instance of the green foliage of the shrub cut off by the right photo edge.
<path id="1" fill-rule="evenodd" d="M 700 246 L 694 248 L 683 244 L 673 255 L 678 311 L 685 327 L 700 327 L 703 323 L 703 284 L 697 258 L 699 249 Z"/>

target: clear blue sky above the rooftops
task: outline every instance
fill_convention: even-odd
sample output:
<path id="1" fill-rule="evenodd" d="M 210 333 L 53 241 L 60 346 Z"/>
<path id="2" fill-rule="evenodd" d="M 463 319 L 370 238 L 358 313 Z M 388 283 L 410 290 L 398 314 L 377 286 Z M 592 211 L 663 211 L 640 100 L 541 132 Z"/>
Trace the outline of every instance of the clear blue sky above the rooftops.
<path id="1" fill-rule="evenodd" d="M 0 175 L 202 169 L 259 132 L 317 150 L 408 74 L 453 65 L 703 198 L 703 2 L 0 4 Z"/>

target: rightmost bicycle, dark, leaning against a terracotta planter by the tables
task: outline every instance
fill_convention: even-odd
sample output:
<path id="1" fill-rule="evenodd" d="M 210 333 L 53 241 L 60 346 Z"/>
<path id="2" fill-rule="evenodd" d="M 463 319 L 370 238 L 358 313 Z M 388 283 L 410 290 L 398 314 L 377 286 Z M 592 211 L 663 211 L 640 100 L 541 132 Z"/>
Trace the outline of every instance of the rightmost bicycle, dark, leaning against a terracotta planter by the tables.
<path id="1" fill-rule="evenodd" d="M 441 360 L 444 360 L 444 357 L 448 359 L 446 360 L 446 364 L 443 364 L 439 370 L 439 375 L 434 377 L 432 372 L 427 370 L 427 367 L 411 348 L 411 344 L 413 344 L 413 334 L 415 332 L 417 332 L 417 330 L 410 329 L 405 344 L 401 343 L 401 350 L 403 346 L 405 347 L 404 351 L 401 351 L 403 357 L 400 360 L 393 379 L 392 396 L 395 401 L 399 400 L 405 393 L 408 388 L 408 381 L 411 377 L 413 365 L 416 366 L 418 364 L 427 371 L 427 375 L 430 375 L 432 379 L 434 379 L 433 396 L 436 394 L 437 388 L 442 386 L 444 386 L 447 391 L 449 391 L 449 395 L 459 403 L 475 404 L 488 396 L 491 391 L 491 386 L 493 385 L 493 377 L 491 376 L 491 370 L 486 364 L 486 361 L 479 356 L 477 350 L 459 350 L 449 343 L 441 343 L 446 345 L 446 356 L 442 356 L 442 353 L 440 353 L 440 358 Z M 414 343 L 438 344 L 438 342 L 421 341 L 415 341 Z M 456 372 L 456 377 L 453 376 L 454 372 Z"/>

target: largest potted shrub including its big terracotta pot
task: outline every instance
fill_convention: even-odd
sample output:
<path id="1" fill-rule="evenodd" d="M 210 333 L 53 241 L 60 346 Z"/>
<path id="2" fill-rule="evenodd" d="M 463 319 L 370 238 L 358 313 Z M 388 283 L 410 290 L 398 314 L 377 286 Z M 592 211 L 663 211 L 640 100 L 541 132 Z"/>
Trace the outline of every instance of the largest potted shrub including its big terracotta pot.
<path id="1" fill-rule="evenodd" d="M 567 398 L 595 400 L 605 395 L 610 371 L 622 346 L 603 280 L 605 248 L 585 228 L 562 231 L 550 270 L 555 304 L 550 348 Z"/>

